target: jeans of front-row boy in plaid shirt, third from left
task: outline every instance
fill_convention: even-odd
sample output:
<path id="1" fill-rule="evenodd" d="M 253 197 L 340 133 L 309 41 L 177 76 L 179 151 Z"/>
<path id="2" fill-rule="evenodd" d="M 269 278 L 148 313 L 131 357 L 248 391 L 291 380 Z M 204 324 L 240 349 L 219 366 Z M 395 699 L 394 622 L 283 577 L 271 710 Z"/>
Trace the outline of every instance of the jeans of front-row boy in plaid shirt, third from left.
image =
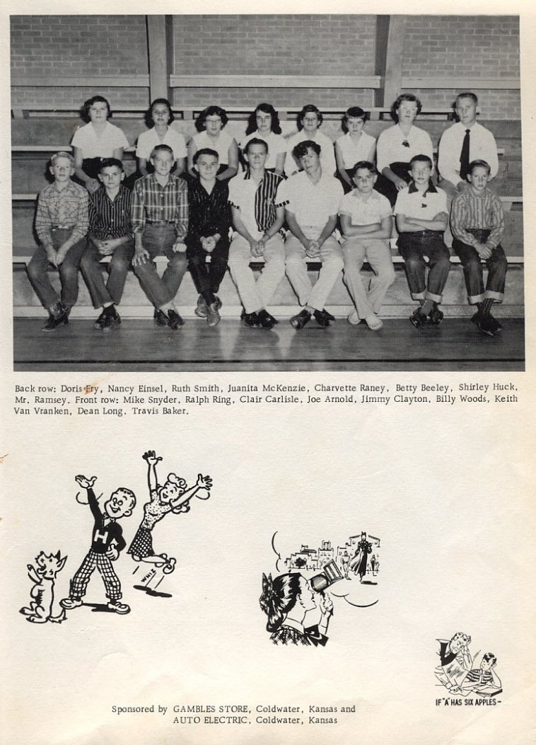
<path id="1" fill-rule="evenodd" d="M 144 264 L 133 264 L 133 270 L 141 289 L 155 308 L 162 308 L 173 301 L 188 266 L 185 251 L 173 252 L 175 240 L 175 229 L 171 224 L 146 225 L 141 236 L 141 243 L 149 254 L 149 259 Z M 156 256 L 165 256 L 168 260 L 162 277 L 153 263 Z"/>

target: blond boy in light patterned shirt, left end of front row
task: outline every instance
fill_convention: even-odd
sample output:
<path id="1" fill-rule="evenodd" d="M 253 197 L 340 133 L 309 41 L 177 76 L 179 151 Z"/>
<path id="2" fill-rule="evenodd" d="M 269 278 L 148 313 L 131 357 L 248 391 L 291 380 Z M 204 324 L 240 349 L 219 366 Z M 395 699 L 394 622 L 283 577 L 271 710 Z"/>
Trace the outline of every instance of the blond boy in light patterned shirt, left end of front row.
<path id="1" fill-rule="evenodd" d="M 71 153 L 53 155 L 49 170 L 54 183 L 39 194 L 35 229 L 40 245 L 28 264 L 33 289 L 48 311 L 48 320 L 42 327 L 45 332 L 68 323 L 68 314 L 78 298 L 78 267 L 88 229 L 88 193 L 71 181 Z M 61 297 L 48 279 L 51 267 L 60 272 Z"/>

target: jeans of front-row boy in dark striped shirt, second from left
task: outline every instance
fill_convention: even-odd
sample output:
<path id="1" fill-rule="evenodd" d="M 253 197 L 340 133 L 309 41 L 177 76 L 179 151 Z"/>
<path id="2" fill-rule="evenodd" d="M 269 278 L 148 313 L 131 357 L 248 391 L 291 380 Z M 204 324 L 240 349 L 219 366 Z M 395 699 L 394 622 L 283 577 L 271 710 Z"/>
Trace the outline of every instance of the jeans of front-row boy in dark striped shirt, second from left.
<path id="1" fill-rule="evenodd" d="M 124 285 L 127 281 L 128 270 L 134 256 L 134 241 L 132 238 L 127 243 L 118 246 L 107 265 L 108 281 L 104 284 L 103 273 L 100 268 L 102 254 L 91 241 L 88 241 L 83 253 L 80 268 L 83 278 L 86 280 L 89 294 L 92 298 L 94 308 L 100 308 L 105 303 L 113 302 L 118 305 L 123 297 Z"/>

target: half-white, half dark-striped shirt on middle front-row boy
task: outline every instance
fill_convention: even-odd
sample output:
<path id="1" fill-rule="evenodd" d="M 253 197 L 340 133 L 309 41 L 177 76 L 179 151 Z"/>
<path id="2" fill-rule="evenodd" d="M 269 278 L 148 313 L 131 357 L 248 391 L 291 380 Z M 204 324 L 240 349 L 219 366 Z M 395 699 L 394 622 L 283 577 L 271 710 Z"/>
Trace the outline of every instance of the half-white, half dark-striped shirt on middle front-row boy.
<path id="1" fill-rule="evenodd" d="M 240 210 L 240 218 L 254 238 L 260 238 L 275 223 L 278 186 L 281 176 L 264 171 L 264 178 L 256 183 L 248 170 L 229 182 L 229 203 Z"/>

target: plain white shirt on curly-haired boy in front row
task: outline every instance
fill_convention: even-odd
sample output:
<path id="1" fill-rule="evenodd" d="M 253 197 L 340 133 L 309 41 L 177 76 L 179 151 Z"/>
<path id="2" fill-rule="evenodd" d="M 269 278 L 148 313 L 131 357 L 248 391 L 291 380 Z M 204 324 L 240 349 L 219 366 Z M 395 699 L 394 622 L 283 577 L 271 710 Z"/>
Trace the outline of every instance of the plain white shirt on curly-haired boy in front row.
<path id="1" fill-rule="evenodd" d="M 322 229 L 331 215 L 339 212 L 342 194 L 342 185 L 333 176 L 322 171 L 322 177 L 315 184 L 305 171 L 301 171 L 281 184 L 277 201 L 293 213 L 300 227 Z"/>

